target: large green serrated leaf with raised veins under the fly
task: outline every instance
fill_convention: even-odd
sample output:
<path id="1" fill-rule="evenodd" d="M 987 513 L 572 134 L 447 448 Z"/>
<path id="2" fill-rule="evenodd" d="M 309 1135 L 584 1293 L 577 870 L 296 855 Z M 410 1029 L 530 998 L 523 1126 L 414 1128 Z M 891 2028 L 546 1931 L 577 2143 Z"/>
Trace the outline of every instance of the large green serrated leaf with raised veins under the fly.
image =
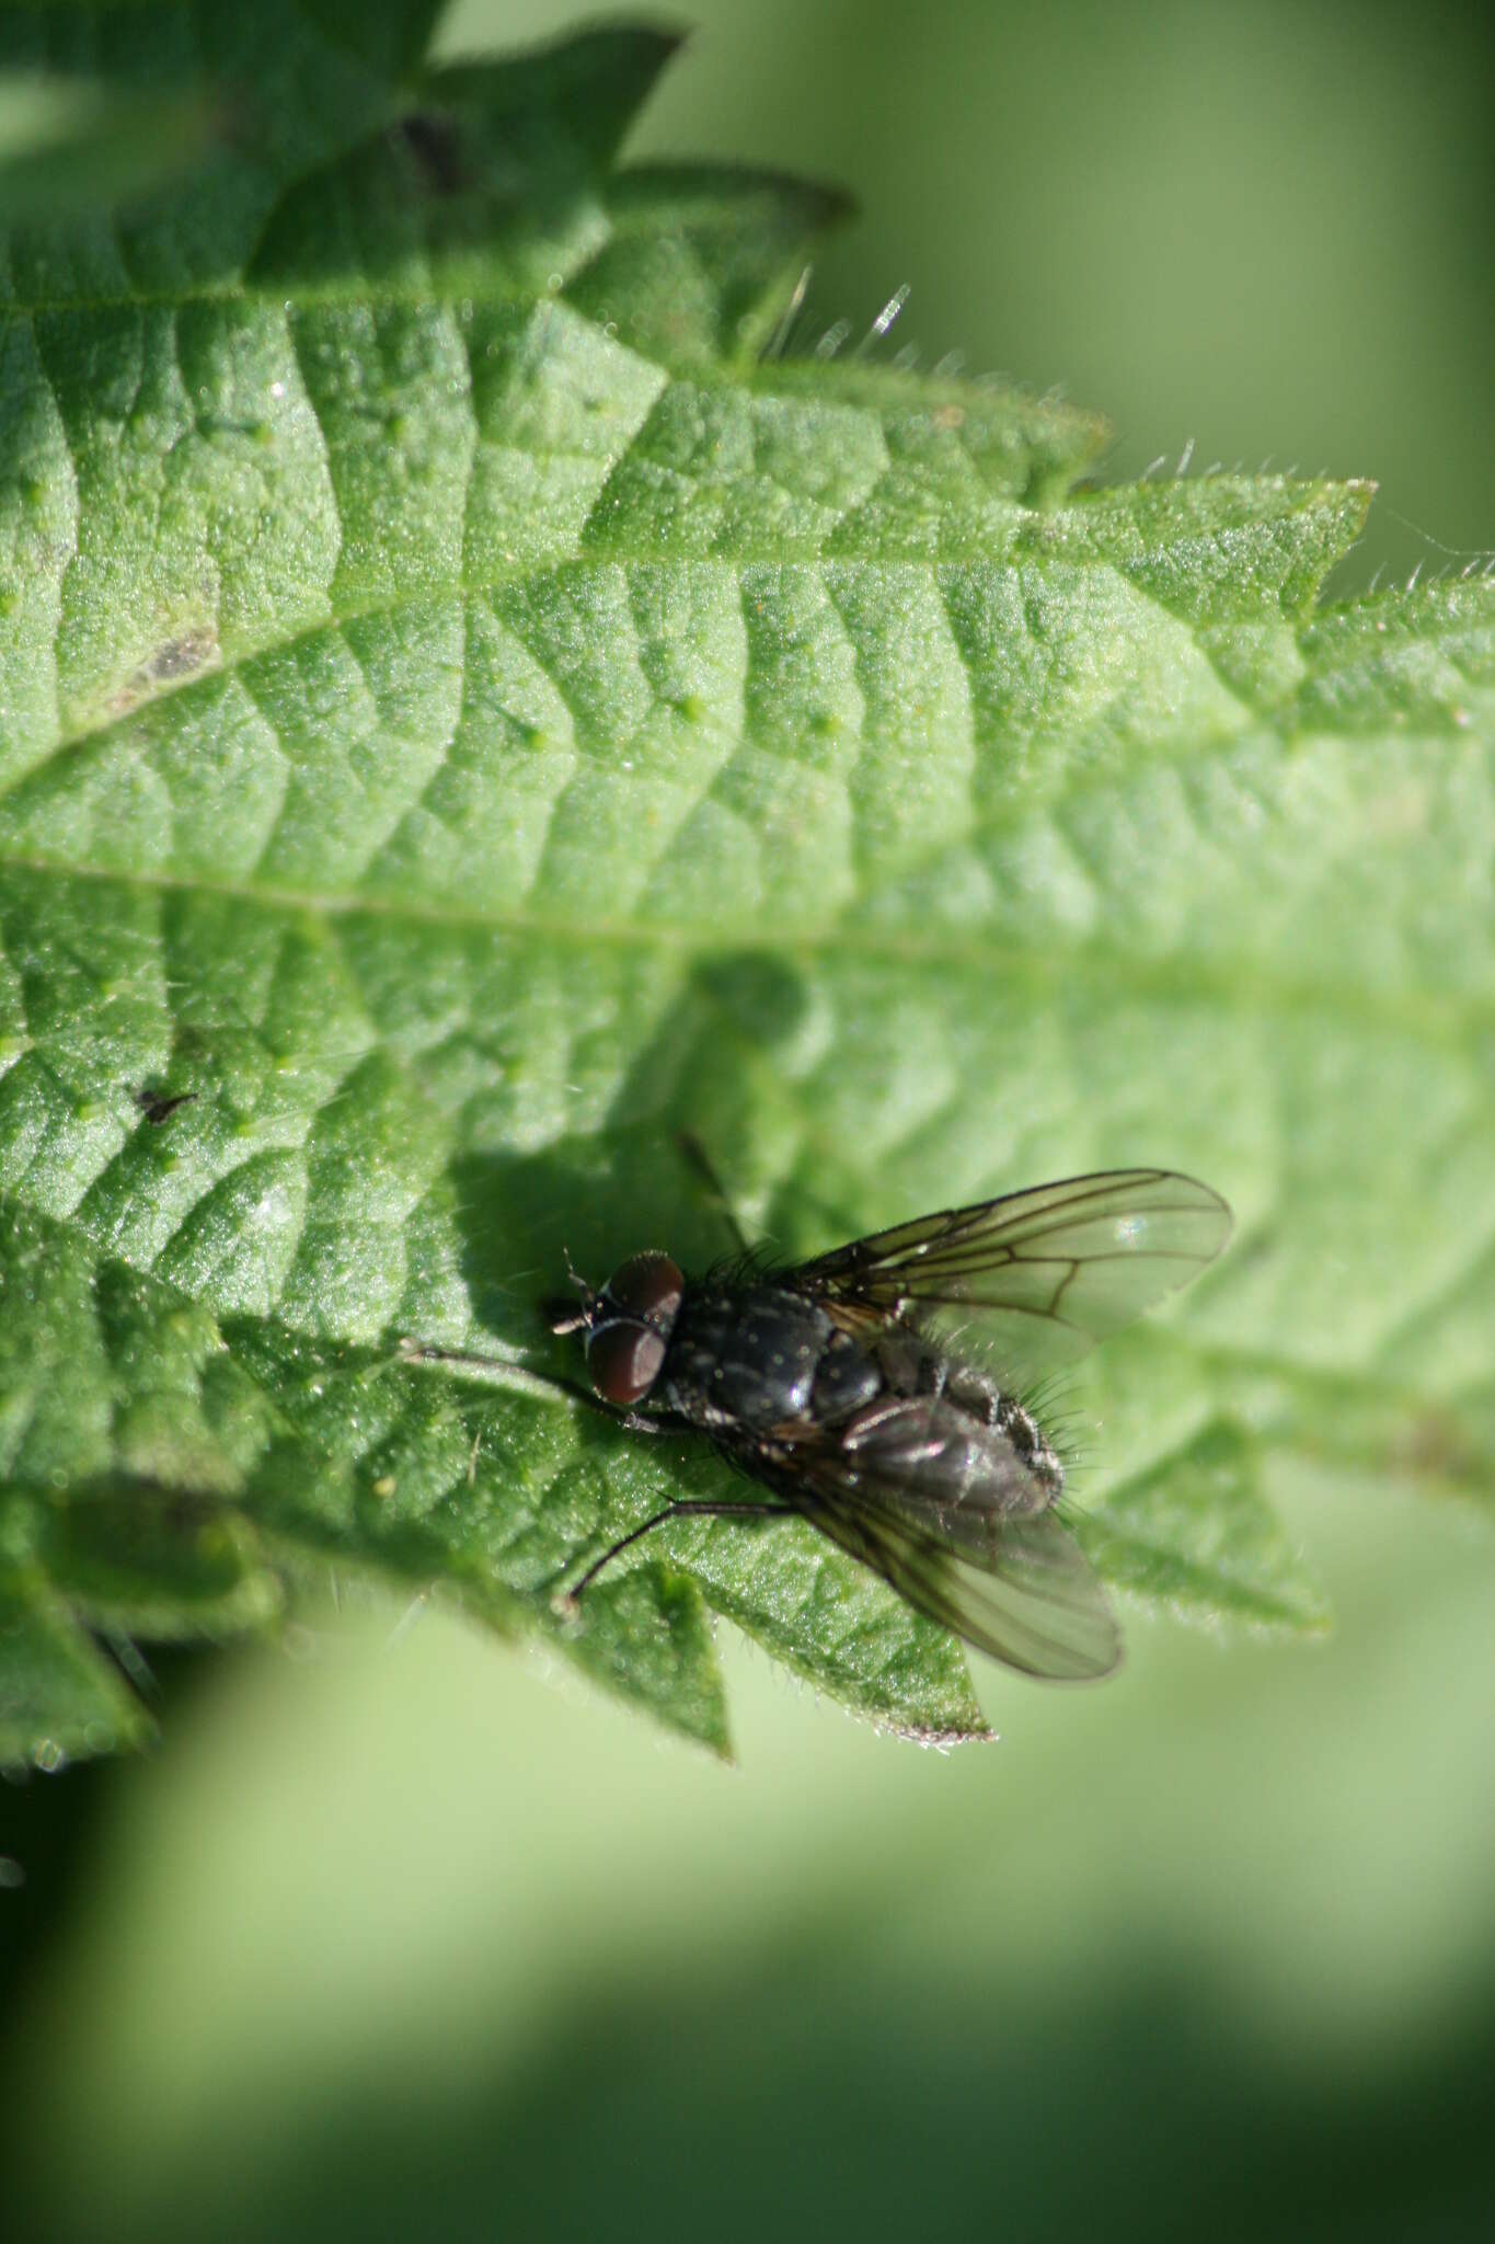
<path id="1" fill-rule="evenodd" d="M 836 197 L 619 168 L 659 34 L 428 16 L 0 11 L 233 119 L 0 258 L 0 1757 L 143 1735 L 90 1629 L 359 1582 L 715 1750 L 711 1611 L 984 1735 L 800 1524 L 554 1609 L 728 1486 L 533 1378 L 563 1250 L 719 1252 L 679 1126 L 784 1252 L 1224 1189 L 1051 1407 L 1130 1600 L 1318 1625 L 1273 1461 L 1491 1495 L 1491 586 L 1320 608 L 1363 485 L 1098 491 L 1087 415 L 776 357 Z"/>

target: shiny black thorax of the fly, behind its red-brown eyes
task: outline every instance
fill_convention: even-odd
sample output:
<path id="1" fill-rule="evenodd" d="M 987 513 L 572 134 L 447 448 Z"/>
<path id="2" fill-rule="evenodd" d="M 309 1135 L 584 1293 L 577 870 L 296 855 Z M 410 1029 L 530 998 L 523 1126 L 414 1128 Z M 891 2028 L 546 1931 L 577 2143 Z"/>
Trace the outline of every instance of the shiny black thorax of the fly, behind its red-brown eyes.
<path id="1" fill-rule="evenodd" d="M 681 1418 L 753 1432 L 805 1416 L 832 1423 L 881 1385 L 872 1358 L 823 1308 L 780 1286 L 690 1286 L 661 1373 L 663 1400 Z"/>

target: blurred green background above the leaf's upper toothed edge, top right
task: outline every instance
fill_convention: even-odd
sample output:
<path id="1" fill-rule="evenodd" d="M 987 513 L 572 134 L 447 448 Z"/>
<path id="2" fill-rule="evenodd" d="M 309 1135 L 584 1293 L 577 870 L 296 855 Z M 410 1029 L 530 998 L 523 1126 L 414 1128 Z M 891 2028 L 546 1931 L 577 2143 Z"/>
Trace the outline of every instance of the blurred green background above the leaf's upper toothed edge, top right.
<path id="1" fill-rule="evenodd" d="M 666 9 L 675 16 L 672 9 Z M 704 0 L 634 155 L 854 191 L 800 328 L 1103 411 L 1114 478 L 1372 476 L 1340 588 L 1495 545 L 1495 16 L 1392 0 Z M 556 7 L 466 0 L 444 45 Z M 1403 516 L 1399 521 L 1399 516 Z"/>

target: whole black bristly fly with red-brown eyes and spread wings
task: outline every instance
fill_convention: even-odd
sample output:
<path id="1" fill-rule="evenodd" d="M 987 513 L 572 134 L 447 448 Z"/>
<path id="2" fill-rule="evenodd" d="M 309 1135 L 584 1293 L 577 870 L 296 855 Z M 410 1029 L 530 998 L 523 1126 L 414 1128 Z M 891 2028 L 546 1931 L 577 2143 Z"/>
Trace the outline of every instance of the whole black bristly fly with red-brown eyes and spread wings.
<path id="1" fill-rule="evenodd" d="M 702 1149 L 681 1144 L 722 1201 Z M 793 1515 L 1009 1667 L 1109 1674 L 1121 1636 L 1058 1517 L 1060 1459 L 1022 1398 L 962 1358 L 959 1333 L 1000 1364 L 1069 1360 L 1188 1284 L 1228 1234 L 1208 1185 L 1114 1169 L 917 1216 L 791 1268 L 767 1268 L 737 1232 L 740 1261 L 699 1279 L 657 1250 L 603 1288 L 574 1279 L 578 1297 L 542 1310 L 585 1344 L 592 1387 L 572 1391 L 639 1434 L 706 1434 L 767 1495 L 666 1506 L 567 1602 L 666 1519 Z"/>

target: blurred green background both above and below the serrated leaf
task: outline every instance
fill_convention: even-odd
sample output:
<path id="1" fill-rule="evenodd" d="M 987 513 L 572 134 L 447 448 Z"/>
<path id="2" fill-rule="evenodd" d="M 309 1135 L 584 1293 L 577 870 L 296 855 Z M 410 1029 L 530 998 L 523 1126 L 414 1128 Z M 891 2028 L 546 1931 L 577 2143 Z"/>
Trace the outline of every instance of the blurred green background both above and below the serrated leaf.
<path id="1" fill-rule="evenodd" d="M 908 283 L 1114 473 L 1378 476 L 1347 586 L 1495 541 L 1488 9 L 693 13 L 634 153 L 854 188 L 805 346 Z M 950 1759 L 733 1640 L 737 1773 L 435 1609 L 155 1663 L 0 1788 L 7 2237 L 1486 2235 L 1495 1537 L 1271 1495 L 1331 1643 L 1132 1616 Z"/>

